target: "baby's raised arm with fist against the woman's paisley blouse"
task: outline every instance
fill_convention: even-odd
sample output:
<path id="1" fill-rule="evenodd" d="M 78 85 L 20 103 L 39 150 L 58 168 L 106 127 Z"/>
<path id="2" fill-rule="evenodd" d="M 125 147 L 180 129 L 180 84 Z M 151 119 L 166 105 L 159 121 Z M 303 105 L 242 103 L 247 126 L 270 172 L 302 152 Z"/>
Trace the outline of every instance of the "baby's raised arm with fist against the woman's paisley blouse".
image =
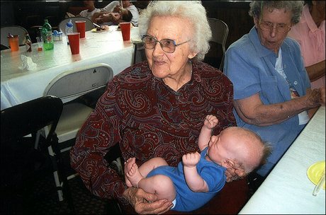
<path id="1" fill-rule="evenodd" d="M 201 127 L 201 134 L 198 137 L 198 147 L 201 151 L 208 146 L 210 136 L 212 136 L 212 129 L 218 124 L 218 118 L 214 115 L 207 115 Z"/>

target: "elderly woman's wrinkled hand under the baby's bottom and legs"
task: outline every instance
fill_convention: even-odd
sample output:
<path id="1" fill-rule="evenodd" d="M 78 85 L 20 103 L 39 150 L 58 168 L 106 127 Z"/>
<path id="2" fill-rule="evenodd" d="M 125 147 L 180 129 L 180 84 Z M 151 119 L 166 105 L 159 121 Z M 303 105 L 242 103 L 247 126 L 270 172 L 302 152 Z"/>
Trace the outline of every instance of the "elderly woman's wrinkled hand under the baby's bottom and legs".
<path id="1" fill-rule="evenodd" d="M 135 187 L 128 187 L 123 197 L 133 206 L 137 214 L 163 214 L 173 206 L 167 199 L 157 200 L 156 194 Z"/>

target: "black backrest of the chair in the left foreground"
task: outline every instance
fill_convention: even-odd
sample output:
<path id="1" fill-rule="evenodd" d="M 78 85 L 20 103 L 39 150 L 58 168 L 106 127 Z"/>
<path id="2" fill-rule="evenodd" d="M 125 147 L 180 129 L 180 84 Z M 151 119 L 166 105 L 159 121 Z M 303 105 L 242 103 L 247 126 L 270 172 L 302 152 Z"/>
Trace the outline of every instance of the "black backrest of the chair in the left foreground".
<path id="1" fill-rule="evenodd" d="M 60 98 L 48 95 L 1 110 L 1 144 L 38 132 L 47 125 L 51 125 L 49 134 L 54 134 L 62 107 Z"/>

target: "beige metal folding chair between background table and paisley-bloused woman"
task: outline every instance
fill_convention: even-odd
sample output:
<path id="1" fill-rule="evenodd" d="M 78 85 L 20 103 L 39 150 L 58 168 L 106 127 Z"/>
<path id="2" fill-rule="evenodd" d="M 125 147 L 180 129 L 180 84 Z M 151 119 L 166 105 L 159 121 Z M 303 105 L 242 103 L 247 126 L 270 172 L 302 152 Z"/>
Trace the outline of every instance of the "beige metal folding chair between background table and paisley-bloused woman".
<path id="1" fill-rule="evenodd" d="M 52 79 L 47 85 L 43 95 L 55 95 L 64 103 L 62 115 L 55 129 L 59 143 L 76 138 L 77 132 L 93 110 L 92 107 L 80 102 L 77 98 L 86 93 L 103 91 L 112 78 L 111 66 L 100 63 L 66 71 Z M 97 100 L 97 98 L 94 99 Z M 44 131 L 47 134 L 47 129 Z M 61 146 L 61 148 L 64 148 L 63 152 L 71 147 Z"/>

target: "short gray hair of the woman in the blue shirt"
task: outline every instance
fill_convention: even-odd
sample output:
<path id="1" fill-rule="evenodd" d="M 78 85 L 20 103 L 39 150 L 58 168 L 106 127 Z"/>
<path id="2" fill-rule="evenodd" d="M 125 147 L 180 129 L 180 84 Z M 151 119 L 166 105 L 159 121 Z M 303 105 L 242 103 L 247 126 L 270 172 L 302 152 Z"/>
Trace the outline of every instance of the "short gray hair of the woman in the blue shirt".
<path id="1" fill-rule="evenodd" d="M 262 8 L 282 9 L 292 12 L 291 23 L 296 24 L 300 21 L 303 11 L 304 1 L 252 1 L 250 3 L 249 15 L 254 18 L 260 18 Z"/>

